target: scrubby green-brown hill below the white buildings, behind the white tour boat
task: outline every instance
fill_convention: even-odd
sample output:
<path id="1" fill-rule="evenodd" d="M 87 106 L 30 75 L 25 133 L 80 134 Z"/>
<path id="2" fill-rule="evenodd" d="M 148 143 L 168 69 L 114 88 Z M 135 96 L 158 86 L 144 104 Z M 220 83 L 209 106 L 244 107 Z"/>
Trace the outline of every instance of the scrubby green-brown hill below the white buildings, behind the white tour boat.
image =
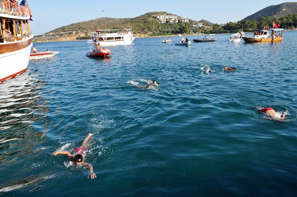
<path id="1" fill-rule="evenodd" d="M 134 32 L 140 31 L 141 34 L 145 35 L 170 35 L 170 34 L 180 34 L 184 32 L 189 32 L 192 29 L 194 32 L 201 29 L 193 28 L 193 24 L 197 21 L 189 19 L 189 23 L 160 23 L 157 20 L 157 14 L 172 14 L 167 12 L 149 12 L 140 15 L 135 18 L 97 18 L 94 20 L 88 20 L 78 23 L 73 23 L 67 26 L 62 26 L 60 28 L 49 31 L 43 36 L 88 36 L 91 31 L 93 31 L 93 26 L 95 29 L 121 29 L 121 28 L 132 28 Z M 177 16 L 177 18 L 181 18 Z M 207 20 L 201 20 L 205 24 L 212 25 Z"/>

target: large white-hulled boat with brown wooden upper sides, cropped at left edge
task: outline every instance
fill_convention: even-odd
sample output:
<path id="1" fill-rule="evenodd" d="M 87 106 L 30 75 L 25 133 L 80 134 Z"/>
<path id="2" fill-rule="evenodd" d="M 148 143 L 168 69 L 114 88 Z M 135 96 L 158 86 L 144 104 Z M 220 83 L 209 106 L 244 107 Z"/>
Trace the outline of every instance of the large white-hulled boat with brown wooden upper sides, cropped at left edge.
<path id="1" fill-rule="evenodd" d="M 0 0 L 0 82 L 28 67 L 33 38 L 30 15 L 28 6 Z"/>

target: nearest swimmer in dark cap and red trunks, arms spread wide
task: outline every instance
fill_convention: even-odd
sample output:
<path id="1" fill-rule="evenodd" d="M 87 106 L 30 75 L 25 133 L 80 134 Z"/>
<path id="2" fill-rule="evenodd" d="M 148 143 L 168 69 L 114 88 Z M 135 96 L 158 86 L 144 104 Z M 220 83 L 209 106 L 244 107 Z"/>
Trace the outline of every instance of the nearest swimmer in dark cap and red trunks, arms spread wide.
<path id="1" fill-rule="evenodd" d="M 87 142 L 88 142 L 88 139 L 92 136 L 93 134 L 88 134 L 88 136 L 86 137 L 86 139 L 83 140 L 83 144 L 81 145 L 81 147 L 78 147 L 75 149 L 75 152 L 78 153 L 83 153 L 83 151 L 88 147 L 87 146 Z M 69 161 L 72 161 L 74 165 L 77 165 L 77 166 L 82 166 L 82 165 L 86 165 L 89 167 L 90 169 L 90 174 L 88 176 L 91 177 L 91 179 L 95 179 L 96 178 L 96 174 L 93 172 L 93 166 L 92 164 L 90 163 L 86 163 L 83 161 L 83 156 L 81 154 L 76 154 L 75 156 L 72 156 L 70 154 L 70 152 L 68 151 L 55 151 L 52 153 L 53 156 L 56 156 L 57 154 L 64 154 L 64 155 L 67 155 L 68 158 L 69 158 Z"/>

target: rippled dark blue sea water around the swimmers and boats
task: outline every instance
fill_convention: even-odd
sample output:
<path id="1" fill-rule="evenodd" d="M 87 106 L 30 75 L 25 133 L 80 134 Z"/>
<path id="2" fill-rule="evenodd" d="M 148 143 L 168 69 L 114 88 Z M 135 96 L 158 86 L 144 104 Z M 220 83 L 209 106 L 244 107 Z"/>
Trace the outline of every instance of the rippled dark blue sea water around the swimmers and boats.
<path id="1" fill-rule="evenodd" d="M 0 84 L 0 196 L 296 196 L 297 32 L 215 37 L 135 39 L 110 58 L 86 57 L 83 41 L 34 43 L 60 53 Z M 159 86 L 138 87 L 147 80 Z M 51 155 L 88 133 L 93 180 Z"/>

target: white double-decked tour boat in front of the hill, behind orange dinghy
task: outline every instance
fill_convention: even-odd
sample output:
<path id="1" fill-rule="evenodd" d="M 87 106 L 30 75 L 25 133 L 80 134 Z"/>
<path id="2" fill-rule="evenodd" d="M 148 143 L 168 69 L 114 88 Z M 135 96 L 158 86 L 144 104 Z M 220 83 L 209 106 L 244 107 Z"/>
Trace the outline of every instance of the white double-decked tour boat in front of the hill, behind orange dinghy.
<path id="1" fill-rule="evenodd" d="M 92 42 L 87 43 L 100 44 L 101 46 L 127 45 L 138 37 L 134 35 L 132 29 L 101 29 L 91 32 Z"/>

